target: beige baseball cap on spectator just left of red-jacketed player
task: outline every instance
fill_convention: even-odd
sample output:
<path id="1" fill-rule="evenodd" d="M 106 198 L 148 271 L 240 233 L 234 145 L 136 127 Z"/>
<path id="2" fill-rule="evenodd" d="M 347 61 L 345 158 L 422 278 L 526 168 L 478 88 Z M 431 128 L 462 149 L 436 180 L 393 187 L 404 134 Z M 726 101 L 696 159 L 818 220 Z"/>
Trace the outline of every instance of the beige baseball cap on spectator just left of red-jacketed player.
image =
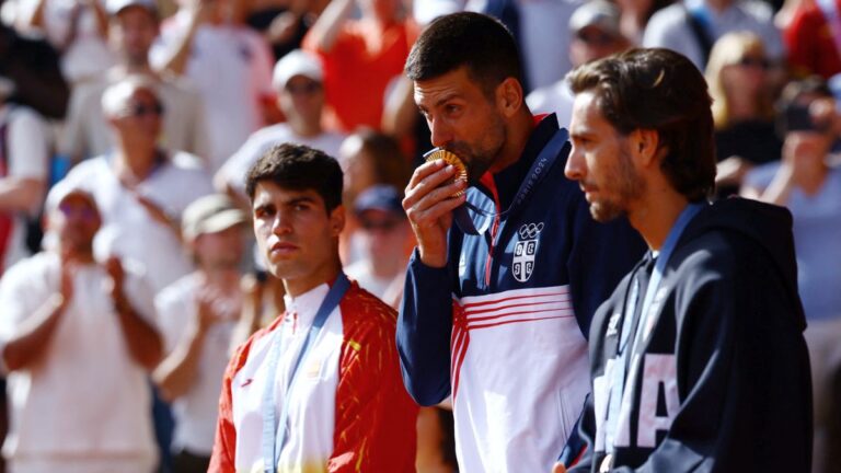
<path id="1" fill-rule="evenodd" d="M 224 194 L 200 197 L 188 205 L 181 218 L 181 231 L 185 240 L 205 233 L 216 233 L 249 221 L 244 211 L 237 208 Z"/>

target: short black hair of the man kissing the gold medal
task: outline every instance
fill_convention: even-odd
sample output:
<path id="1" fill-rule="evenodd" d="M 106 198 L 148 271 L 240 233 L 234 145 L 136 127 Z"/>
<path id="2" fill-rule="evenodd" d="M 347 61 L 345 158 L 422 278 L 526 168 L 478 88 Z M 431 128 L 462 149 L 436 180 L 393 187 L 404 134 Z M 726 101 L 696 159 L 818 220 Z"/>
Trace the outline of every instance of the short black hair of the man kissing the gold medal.
<path id="1" fill-rule="evenodd" d="M 466 66 L 468 74 L 486 94 L 512 77 L 522 83 L 517 43 L 503 23 L 491 16 L 459 12 L 433 21 L 406 59 L 406 76 L 429 80 Z"/>

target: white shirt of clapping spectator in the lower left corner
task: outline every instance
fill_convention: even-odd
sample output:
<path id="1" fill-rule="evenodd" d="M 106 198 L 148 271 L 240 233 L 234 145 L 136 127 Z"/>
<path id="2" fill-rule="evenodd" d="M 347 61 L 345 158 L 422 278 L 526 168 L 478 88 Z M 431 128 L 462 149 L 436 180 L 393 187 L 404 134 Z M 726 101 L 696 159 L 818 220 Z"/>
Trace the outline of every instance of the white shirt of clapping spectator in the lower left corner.
<path id="1" fill-rule="evenodd" d="M 153 323 L 152 292 L 124 264 L 131 307 Z M 0 341 L 59 290 L 60 261 L 39 253 L 0 280 Z M 101 265 L 79 268 L 73 297 L 60 314 L 43 361 L 9 374 L 11 459 L 127 457 L 154 459 L 151 395 L 143 368 L 126 348 Z"/>

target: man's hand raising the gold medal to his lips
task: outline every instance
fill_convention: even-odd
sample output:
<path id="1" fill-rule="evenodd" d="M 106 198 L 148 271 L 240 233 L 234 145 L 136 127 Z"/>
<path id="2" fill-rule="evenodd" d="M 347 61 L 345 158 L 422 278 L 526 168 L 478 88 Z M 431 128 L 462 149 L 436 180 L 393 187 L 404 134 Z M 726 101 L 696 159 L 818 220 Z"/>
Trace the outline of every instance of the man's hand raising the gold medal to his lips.
<path id="1" fill-rule="evenodd" d="M 452 180 L 456 168 L 443 160 L 436 160 L 418 166 L 406 186 L 403 209 L 406 211 L 412 230 L 417 238 L 420 261 L 431 267 L 447 265 L 447 231 L 452 226 L 452 210 L 464 204 L 468 184 Z"/>

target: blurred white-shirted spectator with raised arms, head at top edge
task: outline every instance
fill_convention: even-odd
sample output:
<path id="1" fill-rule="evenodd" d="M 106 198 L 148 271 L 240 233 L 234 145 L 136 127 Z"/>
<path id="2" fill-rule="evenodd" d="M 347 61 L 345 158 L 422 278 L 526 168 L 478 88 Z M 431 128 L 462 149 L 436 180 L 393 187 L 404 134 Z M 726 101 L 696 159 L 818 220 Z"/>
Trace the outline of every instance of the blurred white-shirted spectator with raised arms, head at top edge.
<path id="1" fill-rule="evenodd" d="M 152 66 L 183 74 L 205 100 L 215 173 L 264 124 L 272 91 L 272 51 L 244 25 L 244 0 L 181 0 L 152 47 Z"/>

